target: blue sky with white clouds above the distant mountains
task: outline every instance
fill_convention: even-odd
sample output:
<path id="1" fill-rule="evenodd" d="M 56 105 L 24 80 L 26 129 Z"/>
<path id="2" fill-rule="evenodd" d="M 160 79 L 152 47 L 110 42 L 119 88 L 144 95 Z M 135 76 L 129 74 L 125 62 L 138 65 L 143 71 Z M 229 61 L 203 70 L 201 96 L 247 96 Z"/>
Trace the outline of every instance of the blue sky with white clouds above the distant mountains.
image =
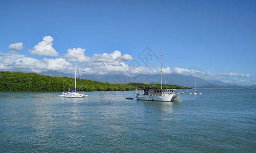
<path id="1" fill-rule="evenodd" d="M 256 85 L 256 1 L 0 1 L 0 70 Z M 155 57 L 148 59 L 151 53 Z M 136 63 L 134 65 L 134 63 Z"/>

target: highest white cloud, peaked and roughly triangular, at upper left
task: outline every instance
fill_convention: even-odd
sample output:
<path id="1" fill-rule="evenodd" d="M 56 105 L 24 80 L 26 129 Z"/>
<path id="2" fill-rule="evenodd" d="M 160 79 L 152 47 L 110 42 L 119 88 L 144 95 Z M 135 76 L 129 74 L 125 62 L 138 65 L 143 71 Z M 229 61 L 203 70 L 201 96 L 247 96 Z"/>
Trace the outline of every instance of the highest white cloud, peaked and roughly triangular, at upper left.
<path id="1" fill-rule="evenodd" d="M 52 47 L 52 42 L 53 38 L 51 36 L 46 36 L 43 38 L 43 41 L 35 45 L 29 52 L 32 55 L 58 57 L 58 52 Z"/>

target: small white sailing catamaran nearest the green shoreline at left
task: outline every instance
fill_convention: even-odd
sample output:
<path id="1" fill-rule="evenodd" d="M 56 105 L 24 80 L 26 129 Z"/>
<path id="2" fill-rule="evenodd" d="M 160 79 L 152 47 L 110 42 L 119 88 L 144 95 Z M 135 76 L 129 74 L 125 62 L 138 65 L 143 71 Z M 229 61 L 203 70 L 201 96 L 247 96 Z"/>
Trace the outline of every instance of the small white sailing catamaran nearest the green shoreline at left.
<path id="1" fill-rule="evenodd" d="M 76 87 L 76 71 L 78 72 L 77 65 L 75 63 L 75 87 Z M 79 79 L 80 79 L 79 72 L 78 72 L 78 76 L 79 76 Z M 81 83 L 81 87 L 82 87 L 82 90 L 83 90 L 82 94 L 81 93 L 76 93 L 75 89 L 74 89 L 74 90 L 71 90 L 71 91 L 69 91 L 67 93 L 62 92 L 62 94 L 61 95 L 57 95 L 57 97 L 70 97 L 70 98 L 87 97 L 88 95 L 84 94 L 84 89 L 83 89 L 83 86 L 82 86 L 81 79 L 80 79 L 80 83 Z"/>

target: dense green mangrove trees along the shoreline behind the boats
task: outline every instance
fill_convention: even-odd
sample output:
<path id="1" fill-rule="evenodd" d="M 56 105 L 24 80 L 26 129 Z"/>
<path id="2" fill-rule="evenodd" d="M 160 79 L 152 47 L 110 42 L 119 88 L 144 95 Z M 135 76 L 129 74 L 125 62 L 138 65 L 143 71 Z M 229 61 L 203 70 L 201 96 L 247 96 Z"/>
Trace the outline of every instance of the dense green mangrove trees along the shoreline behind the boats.
<path id="1" fill-rule="evenodd" d="M 129 91 L 137 88 L 161 88 L 159 84 L 110 84 L 81 79 L 84 91 Z M 69 91 L 74 89 L 74 78 L 50 77 L 37 73 L 0 71 L 0 91 Z M 170 89 L 191 89 L 176 85 L 162 85 Z M 82 91 L 80 81 L 76 82 L 76 91 Z"/>

